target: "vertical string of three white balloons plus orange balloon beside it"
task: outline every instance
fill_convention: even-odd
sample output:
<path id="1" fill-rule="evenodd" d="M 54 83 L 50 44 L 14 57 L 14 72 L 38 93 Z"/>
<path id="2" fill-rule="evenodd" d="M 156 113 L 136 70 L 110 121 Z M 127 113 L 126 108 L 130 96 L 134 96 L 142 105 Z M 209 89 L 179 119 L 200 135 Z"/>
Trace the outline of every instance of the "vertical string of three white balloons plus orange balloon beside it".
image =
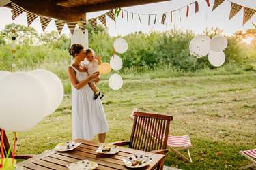
<path id="1" fill-rule="evenodd" d="M 114 41 L 114 54 L 111 56 L 109 63 L 102 63 L 99 66 L 99 72 L 102 74 L 108 74 L 111 71 L 111 68 L 114 71 L 119 71 L 123 66 L 122 58 L 120 58 L 115 52 L 119 54 L 124 54 L 124 52 L 128 49 L 128 44 L 125 39 L 117 38 Z M 119 90 L 123 86 L 122 77 L 117 74 L 113 73 L 113 75 L 109 78 L 109 87 L 113 90 Z"/>

